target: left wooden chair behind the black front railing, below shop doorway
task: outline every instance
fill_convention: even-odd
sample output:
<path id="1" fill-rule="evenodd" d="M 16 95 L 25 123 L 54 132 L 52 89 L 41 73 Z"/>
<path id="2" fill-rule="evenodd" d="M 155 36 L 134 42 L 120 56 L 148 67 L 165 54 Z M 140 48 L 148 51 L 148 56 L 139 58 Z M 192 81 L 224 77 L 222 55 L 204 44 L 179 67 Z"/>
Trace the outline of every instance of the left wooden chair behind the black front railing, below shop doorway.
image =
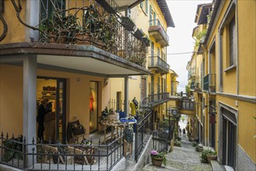
<path id="1" fill-rule="evenodd" d="M 53 158 L 54 154 L 58 154 L 58 155 L 55 155 L 55 156 L 58 156 L 57 163 L 65 164 L 64 159 L 58 152 L 58 148 L 50 146 L 50 145 L 43 145 L 43 150 L 47 154 L 44 157 L 44 161 L 43 161 L 44 163 L 54 163 L 54 158 Z M 67 164 L 72 164 L 72 160 L 73 160 L 72 156 L 67 155 Z"/>

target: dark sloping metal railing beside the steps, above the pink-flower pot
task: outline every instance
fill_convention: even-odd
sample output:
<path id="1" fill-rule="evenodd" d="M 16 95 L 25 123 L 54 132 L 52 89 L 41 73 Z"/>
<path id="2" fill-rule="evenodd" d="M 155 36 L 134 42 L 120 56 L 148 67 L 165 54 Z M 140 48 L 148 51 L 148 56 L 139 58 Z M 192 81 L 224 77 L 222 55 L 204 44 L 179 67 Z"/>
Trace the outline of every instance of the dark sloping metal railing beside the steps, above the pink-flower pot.
<path id="1" fill-rule="evenodd" d="M 146 143 L 149 141 L 150 132 L 153 130 L 152 111 L 146 114 L 142 120 L 135 124 L 135 161 L 139 161 Z"/>

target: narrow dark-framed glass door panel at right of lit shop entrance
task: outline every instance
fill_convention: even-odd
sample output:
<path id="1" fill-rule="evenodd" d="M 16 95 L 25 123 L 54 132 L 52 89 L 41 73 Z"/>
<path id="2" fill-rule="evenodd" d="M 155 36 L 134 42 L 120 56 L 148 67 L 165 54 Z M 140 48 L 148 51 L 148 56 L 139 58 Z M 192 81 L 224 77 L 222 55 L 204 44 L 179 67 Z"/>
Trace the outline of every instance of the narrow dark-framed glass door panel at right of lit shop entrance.
<path id="1" fill-rule="evenodd" d="M 66 111 L 65 111 L 65 102 L 66 102 L 66 80 L 57 79 L 57 96 L 56 96 L 56 140 L 65 143 L 66 135 Z"/>

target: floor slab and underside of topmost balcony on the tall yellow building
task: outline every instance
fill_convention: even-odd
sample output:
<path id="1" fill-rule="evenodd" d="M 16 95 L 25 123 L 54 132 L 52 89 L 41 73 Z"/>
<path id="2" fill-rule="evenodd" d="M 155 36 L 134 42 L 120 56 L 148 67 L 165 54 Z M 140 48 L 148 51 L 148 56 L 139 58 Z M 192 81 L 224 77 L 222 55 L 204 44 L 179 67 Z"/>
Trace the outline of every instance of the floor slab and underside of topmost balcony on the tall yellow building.
<path id="1" fill-rule="evenodd" d="M 149 37 L 154 37 L 156 43 L 160 44 L 161 47 L 169 46 L 169 40 L 167 39 L 166 32 L 161 26 L 150 26 Z"/>

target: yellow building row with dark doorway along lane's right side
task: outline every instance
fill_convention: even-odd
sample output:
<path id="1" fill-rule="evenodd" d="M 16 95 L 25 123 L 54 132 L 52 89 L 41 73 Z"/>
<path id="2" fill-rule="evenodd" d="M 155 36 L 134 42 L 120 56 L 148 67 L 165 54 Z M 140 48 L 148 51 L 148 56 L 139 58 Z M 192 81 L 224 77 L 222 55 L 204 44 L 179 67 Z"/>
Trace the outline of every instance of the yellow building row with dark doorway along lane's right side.
<path id="1" fill-rule="evenodd" d="M 195 105 L 201 105 L 195 109 L 197 138 L 217 151 L 219 163 L 252 170 L 256 161 L 256 2 L 213 1 L 210 13 L 205 6 L 198 5 L 196 22 L 207 26 L 195 49 L 202 55 L 202 68 L 196 68 L 201 71 L 201 79 L 196 76 L 201 86 L 193 87 Z"/>

